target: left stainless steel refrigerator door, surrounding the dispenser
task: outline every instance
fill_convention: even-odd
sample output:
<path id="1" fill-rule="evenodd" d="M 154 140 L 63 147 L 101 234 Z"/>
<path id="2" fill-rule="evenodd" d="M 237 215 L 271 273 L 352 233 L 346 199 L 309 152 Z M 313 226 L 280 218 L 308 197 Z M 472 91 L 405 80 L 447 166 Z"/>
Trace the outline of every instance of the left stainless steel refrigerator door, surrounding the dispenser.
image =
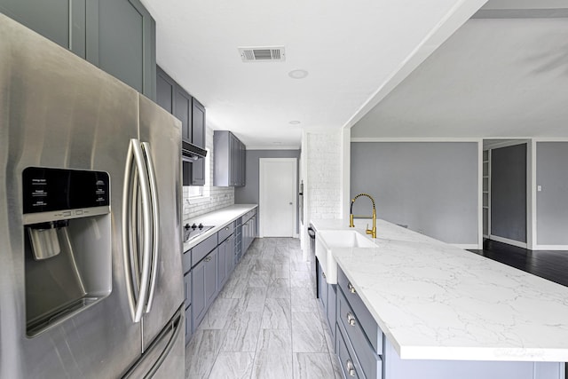
<path id="1" fill-rule="evenodd" d="M 0 36 L 0 377 L 120 377 L 138 360 L 141 344 L 141 328 L 130 320 L 120 243 L 138 93 L 2 14 Z M 22 171 L 29 166 L 106 171 L 112 211 L 104 216 L 112 239 L 100 245 L 112 249 L 110 294 L 33 337 L 26 336 L 22 224 Z M 93 222 L 85 233 L 99 236 L 98 227 Z"/>

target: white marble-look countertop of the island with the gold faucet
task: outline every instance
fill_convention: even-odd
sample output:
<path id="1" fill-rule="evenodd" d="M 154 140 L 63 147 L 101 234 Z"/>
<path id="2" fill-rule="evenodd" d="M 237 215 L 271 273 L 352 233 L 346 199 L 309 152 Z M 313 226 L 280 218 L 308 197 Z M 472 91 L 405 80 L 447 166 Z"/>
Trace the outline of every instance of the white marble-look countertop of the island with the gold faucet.
<path id="1" fill-rule="evenodd" d="M 568 361 L 568 288 L 383 220 L 377 236 L 334 257 L 401 359 Z"/>

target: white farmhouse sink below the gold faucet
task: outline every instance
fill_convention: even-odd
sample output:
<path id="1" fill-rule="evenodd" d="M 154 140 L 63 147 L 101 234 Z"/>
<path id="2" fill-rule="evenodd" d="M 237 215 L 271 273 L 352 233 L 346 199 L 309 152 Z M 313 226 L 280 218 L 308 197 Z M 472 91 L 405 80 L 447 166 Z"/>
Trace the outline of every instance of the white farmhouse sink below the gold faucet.
<path id="1" fill-rule="evenodd" d="M 337 263 L 333 257 L 335 249 L 375 248 L 375 242 L 356 230 L 323 230 L 316 233 L 316 257 L 327 283 L 337 283 Z"/>

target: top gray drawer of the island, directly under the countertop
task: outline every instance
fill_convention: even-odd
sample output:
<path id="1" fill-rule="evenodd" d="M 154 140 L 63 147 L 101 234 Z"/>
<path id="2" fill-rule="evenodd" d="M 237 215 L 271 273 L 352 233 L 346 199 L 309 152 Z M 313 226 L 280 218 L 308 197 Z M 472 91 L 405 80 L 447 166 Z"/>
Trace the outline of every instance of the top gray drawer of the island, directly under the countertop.
<path id="1" fill-rule="evenodd" d="M 342 289 L 345 299 L 349 302 L 352 312 L 359 320 L 359 325 L 365 332 L 369 342 L 378 354 L 383 354 L 383 330 L 376 325 L 376 321 L 367 310 L 365 304 L 357 294 L 355 288 L 351 286 L 350 281 L 347 279 L 341 268 L 337 269 L 337 283 L 339 288 Z M 338 316 L 339 317 L 339 316 Z M 344 318 L 345 315 L 342 315 Z"/>

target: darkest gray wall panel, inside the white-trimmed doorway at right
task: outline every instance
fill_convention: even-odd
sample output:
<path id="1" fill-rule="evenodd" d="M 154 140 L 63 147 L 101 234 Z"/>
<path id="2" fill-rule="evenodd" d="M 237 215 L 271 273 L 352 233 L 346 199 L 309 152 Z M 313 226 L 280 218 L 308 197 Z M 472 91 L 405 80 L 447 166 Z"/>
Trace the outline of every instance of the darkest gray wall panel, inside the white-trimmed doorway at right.
<path id="1" fill-rule="evenodd" d="M 491 234 L 526 242 L 526 144 L 491 150 Z"/>

